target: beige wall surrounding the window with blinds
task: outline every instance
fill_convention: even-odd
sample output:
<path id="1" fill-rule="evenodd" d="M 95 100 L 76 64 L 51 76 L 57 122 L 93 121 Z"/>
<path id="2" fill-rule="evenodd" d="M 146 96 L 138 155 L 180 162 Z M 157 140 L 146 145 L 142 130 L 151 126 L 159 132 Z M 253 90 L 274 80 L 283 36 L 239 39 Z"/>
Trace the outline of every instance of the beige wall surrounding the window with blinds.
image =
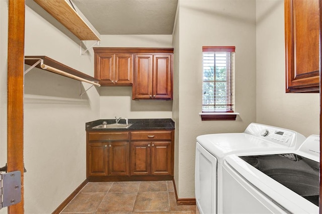
<path id="1" fill-rule="evenodd" d="M 180 97 L 176 130 L 178 166 L 175 181 L 179 198 L 193 198 L 196 137 L 206 133 L 241 132 L 256 121 L 256 28 L 255 1 L 179 0 L 180 26 L 175 31 L 179 46 Z M 177 34 L 180 34 L 179 36 Z M 179 43 L 179 45 L 177 44 Z M 202 46 L 235 46 L 236 121 L 201 121 Z M 177 71 L 178 72 L 178 71 Z"/>

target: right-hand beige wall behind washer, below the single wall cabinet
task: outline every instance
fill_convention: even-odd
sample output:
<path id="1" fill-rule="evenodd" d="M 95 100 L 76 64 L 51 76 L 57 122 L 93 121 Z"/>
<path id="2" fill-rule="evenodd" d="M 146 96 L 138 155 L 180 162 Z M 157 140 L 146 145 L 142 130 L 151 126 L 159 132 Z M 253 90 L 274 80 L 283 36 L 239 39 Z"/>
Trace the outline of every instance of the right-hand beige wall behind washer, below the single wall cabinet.
<path id="1" fill-rule="evenodd" d="M 256 35 L 257 122 L 318 135 L 319 94 L 285 93 L 283 0 L 256 1 Z"/>

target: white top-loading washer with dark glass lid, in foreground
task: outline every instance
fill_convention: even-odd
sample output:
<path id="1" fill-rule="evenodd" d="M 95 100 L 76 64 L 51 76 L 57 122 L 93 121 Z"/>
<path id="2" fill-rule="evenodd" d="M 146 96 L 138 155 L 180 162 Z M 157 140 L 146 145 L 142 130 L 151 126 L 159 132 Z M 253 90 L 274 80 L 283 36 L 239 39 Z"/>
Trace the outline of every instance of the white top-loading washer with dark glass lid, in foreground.
<path id="1" fill-rule="evenodd" d="M 319 148 L 312 135 L 295 151 L 225 157 L 223 212 L 318 213 Z"/>

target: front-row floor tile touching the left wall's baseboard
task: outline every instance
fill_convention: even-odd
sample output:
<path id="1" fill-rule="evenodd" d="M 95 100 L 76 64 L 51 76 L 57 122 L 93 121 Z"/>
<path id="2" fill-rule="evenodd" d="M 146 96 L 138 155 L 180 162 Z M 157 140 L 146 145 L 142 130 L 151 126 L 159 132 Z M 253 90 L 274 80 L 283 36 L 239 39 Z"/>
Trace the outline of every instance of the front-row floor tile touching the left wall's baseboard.
<path id="1" fill-rule="evenodd" d="M 64 212 L 95 212 L 105 193 L 79 193 L 62 210 Z"/>

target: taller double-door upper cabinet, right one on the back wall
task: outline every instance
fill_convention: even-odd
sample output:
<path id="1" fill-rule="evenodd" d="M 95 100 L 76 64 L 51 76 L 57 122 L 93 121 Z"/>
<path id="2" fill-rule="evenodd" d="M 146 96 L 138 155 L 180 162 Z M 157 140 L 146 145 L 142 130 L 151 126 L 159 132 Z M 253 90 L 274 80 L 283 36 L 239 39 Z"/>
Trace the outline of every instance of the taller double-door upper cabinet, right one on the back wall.
<path id="1" fill-rule="evenodd" d="M 136 54 L 133 99 L 173 99 L 172 53 Z"/>

